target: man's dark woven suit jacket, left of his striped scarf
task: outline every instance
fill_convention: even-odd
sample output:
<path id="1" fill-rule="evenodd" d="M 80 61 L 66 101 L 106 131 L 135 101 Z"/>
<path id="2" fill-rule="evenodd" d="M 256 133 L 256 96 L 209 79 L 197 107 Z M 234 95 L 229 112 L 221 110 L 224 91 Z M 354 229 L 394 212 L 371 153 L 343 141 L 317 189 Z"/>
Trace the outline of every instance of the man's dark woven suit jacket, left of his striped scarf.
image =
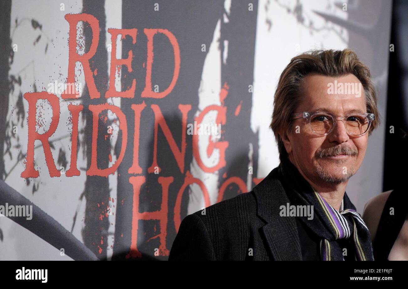
<path id="1" fill-rule="evenodd" d="M 302 260 L 295 217 L 279 216 L 289 199 L 278 169 L 252 191 L 186 216 L 169 260 Z"/>

